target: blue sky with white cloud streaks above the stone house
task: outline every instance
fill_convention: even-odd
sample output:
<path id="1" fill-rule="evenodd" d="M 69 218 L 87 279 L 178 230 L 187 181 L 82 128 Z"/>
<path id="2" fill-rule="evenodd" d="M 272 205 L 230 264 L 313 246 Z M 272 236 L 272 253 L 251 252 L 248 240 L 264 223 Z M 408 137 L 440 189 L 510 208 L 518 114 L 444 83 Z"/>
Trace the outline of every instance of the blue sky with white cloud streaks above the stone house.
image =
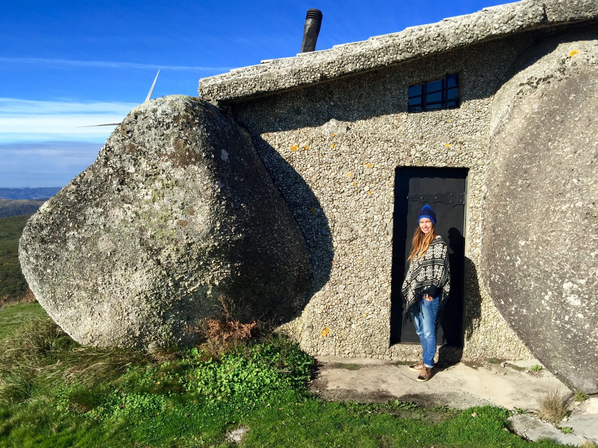
<path id="1" fill-rule="evenodd" d="M 199 78 L 294 56 L 305 13 L 317 50 L 504 3 L 468 1 L 27 1 L 0 14 L 0 187 L 63 186 L 152 97 L 197 96 Z"/>

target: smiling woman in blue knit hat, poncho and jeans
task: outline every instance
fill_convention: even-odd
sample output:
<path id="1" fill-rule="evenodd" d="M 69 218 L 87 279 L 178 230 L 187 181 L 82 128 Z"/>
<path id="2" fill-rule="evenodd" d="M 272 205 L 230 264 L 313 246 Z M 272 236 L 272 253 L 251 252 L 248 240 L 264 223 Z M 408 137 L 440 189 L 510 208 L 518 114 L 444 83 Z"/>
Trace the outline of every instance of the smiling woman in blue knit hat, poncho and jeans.
<path id="1" fill-rule="evenodd" d="M 434 369 L 439 315 L 450 290 L 449 247 L 434 231 L 436 214 L 432 207 L 424 205 L 417 222 L 401 293 L 407 302 L 405 320 L 411 312 L 423 351 L 422 362 L 409 369 L 419 372 L 417 381 L 428 381 Z"/>

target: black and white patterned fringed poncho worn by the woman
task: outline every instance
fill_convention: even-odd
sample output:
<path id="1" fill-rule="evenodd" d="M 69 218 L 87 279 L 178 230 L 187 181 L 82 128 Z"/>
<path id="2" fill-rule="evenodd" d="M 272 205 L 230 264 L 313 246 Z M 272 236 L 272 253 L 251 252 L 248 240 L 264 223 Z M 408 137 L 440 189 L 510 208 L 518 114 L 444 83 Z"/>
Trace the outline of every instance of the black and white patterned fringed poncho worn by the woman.
<path id="1" fill-rule="evenodd" d="M 434 238 L 423 257 L 418 259 L 418 255 L 411 260 L 407 275 L 405 275 L 405 281 L 401 287 L 401 293 L 407 302 L 405 320 L 407 320 L 411 307 L 416 303 L 419 304 L 419 300 L 422 299 L 424 294 L 431 297 L 440 296 L 440 299 L 438 299 L 439 316 L 444 303 L 449 297 L 449 246 L 447 246 L 444 238 Z"/>

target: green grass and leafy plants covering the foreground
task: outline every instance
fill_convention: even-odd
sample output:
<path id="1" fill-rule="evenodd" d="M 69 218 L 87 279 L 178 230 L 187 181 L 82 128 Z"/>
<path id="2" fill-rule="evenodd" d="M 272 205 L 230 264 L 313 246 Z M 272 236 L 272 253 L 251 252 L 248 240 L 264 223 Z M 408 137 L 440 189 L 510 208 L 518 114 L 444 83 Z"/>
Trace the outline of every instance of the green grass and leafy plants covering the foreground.
<path id="1" fill-rule="evenodd" d="M 557 446 L 512 434 L 496 407 L 322 401 L 306 387 L 315 360 L 285 336 L 145 354 L 78 345 L 39 305 L 10 309 L 31 319 L 0 340 L 2 448 L 226 447 L 241 425 L 243 447 Z"/>

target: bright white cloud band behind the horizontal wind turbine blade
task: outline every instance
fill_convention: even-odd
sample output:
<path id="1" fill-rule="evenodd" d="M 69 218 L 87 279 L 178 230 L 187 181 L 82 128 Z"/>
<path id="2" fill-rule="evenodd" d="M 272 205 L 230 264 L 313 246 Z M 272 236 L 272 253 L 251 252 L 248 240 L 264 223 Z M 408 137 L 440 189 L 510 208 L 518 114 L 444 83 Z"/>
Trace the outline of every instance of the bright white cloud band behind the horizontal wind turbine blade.
<path id="1" fill-rule="evenodd" d="M 136 103 L 34 101 L 0 98 L 0 142 L 83 140 L 103 142 Z"/>

